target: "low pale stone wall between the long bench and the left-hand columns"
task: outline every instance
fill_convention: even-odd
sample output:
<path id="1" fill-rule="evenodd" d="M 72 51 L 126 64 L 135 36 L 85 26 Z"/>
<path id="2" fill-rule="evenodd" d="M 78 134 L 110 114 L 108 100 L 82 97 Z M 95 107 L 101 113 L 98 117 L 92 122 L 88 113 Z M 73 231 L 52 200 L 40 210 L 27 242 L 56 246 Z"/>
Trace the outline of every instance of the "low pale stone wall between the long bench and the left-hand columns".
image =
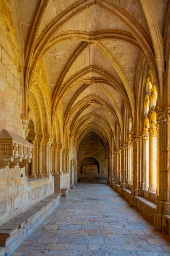
<path id="1" fill-rule="evenodd" d="M 23 177 L 20 176 L 20 170 L 23 171 Z M 0 190 L 0 225 L 54 192 L 53 177 L 28 179 L 25 170 L 18 167 L 11 170 L 11 176 L 3 175 L 0 184 L 3 184 Z"/>

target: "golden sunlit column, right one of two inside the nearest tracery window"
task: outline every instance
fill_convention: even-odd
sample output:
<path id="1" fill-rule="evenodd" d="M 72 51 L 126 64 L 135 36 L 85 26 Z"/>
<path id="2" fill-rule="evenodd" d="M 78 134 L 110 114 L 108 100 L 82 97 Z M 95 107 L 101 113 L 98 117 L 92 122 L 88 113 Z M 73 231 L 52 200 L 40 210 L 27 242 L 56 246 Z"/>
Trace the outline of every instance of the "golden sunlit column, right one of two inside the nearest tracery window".
<path id="1" fill-rule="evenodd" d="M 149 189 L 148 192 L 156 191 L 156 128 L 149 128 Z"/>

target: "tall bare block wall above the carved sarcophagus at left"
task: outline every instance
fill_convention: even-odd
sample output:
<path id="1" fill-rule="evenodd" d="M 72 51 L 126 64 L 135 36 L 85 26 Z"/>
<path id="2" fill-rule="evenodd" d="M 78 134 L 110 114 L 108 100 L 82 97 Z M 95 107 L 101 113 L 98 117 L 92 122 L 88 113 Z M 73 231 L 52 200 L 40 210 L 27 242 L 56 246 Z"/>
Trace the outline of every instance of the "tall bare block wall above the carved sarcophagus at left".
<path id="1" fill-rule="evenodd" d="M 0 129 L 22 135 L 19 52 L 9 0 L 0 1 Z"/>

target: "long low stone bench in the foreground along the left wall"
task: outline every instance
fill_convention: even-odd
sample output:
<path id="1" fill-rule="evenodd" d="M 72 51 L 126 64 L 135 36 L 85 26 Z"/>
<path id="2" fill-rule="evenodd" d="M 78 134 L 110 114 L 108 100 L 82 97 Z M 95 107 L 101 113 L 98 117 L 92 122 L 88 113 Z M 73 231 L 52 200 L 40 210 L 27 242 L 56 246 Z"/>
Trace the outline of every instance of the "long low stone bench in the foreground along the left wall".
<path id="1" fill-rule="evenodd" d="M 0 226 L 0 256 L 9 255 L 57 207 L 61 193 L 54 193 Z"/>

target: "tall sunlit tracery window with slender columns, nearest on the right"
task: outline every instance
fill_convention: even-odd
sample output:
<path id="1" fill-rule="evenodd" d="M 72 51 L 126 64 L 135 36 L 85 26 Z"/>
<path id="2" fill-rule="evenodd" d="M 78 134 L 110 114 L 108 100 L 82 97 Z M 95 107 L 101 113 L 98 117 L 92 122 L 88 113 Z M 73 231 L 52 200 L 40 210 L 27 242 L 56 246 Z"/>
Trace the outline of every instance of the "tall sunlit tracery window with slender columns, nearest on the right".
<path id="1" fill-rule="evenodd" d="M 156 112 L 158 108 L 157 89 L 153 73 L 146 82 L 146 96 L 144 98 L 144 189 L 156 192 L 157 182 L 157 127 Z"/>

